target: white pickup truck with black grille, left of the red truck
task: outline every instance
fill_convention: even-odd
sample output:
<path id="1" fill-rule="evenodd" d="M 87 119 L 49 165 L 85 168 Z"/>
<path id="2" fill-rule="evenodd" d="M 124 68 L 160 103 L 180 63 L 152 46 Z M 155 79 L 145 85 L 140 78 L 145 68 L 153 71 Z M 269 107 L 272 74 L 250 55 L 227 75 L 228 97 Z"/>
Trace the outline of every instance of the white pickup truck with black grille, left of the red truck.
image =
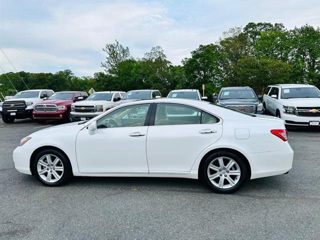
<path id="1" fill-rule="evenodd" d="M 43 101 L 53 92 L 51 89 L 19 91 L 12 99 L 2 102 L 2 120 L 11 123 L 14 119 L 32 118 L 34 104 Z"/>

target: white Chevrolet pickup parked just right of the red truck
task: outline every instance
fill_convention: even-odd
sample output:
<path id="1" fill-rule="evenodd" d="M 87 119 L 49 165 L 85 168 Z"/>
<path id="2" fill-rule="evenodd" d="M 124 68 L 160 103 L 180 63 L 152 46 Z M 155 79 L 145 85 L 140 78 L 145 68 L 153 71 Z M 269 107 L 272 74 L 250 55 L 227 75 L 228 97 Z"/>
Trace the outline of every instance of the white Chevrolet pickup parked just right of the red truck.
<path id="1" fill-rule="evenodd" d="M 70 117 L 72 121 L 87 120 L 110 109 L 115 101 L 119 101 L 124 91 L 97 91 L 86 100 L 71 104 Z"/>

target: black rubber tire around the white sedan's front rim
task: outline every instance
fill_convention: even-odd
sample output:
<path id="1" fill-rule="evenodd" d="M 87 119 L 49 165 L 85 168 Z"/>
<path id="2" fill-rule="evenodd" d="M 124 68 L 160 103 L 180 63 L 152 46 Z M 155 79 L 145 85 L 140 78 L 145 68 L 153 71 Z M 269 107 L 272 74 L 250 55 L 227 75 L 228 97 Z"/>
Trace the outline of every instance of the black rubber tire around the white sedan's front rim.
<path id="1" fill-rule="evenodd" d="M 61 178 L 55 182 L 45 181 L 44 179 L 42 179 L 40 177 L 38 170 L 37 170 L 37 163 L 38 163 L 39 159 L 46 154 L 52 154 L 52 155 L 57 156 L 63 164 L 64 169 L 63 169 L 63 173 L 61 174 Z M 38 152 L 35 155 L 34 159 L 32 159 L 31 169 L 32 169 L 32 173 L 35 175 L 35 177 L 38 179 L 38 181 L 40 181 L 43 185 L 46 185 L 46 186 L 62 185 L 64 183 L 66 183 L 72 175 L 72 168 L 71 168 L 69 160 L 67 159 L 65 154 L 63 154 L 62 152 L 60 152 L 56 149 L 46 149 L 46 150 L 41 150 L 40 152 Z"/>

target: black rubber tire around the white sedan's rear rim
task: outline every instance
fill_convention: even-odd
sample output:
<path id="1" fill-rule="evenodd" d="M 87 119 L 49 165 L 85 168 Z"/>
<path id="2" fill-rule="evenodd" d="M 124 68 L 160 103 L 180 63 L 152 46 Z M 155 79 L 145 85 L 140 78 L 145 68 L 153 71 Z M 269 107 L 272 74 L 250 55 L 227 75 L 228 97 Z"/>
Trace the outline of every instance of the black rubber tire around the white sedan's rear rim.
<path id="1" fill-rule="evenodd" d="M 221 188 L 221 187 L 218 187 L 216 185 L 214 185 L 211 180 L 209 179 L 208 177 L 208 166 L 209 164 L 211 163 L 211 161 L 215 160 L 216 158 L 220 158 L 220 157 L 225 157 L 225 158 L 229 158 L 229 159 L 232 159 L 233 161 L 235 161 L 237 163 L 237 166 L 239 167 L 239 170 L 240 170 L 240 176 L 237 178 L 237 176 L 232 176 L 234 177 L 233 180 L 235 180 L 235 178 L 237 178 L 237 182 L 233 185 L 233 186 L 230 186 L 228 188 Z M 227 163 L 225 163 L 227 164 Z M 234 164 L 236 165 L 236 164 Z M 222 169 L 221 169 L 222 170 Z M 214 170 L 213 170 L 214 171 Z M 223 170 L 222 170 L 223 171 Z M 219 171 L 219 173 L 222 171 Z M 216 171 L 216 173 L 218 173 L 218 171 Z M 246 166 L 243 162 L 243 160 L 241 159 L 241 157 L 233 152 L 228 152 L 228 151 L 218 151 L 218 152 L 214 152 L 212 154 L 210 154 L 209 156 L 206 157 L 206 159 L 204 160 L 203 164 L 202 164 L 202 169 L 200 171 L 200 178 L 203 179 L 203 181 L 215 192 L 218 192 L 218 193 L 232 193 L 236 190 L 238 190 L 242 184 L 244 183 L 244 181 L 246 180 L 247 178 L 247 169 L 246 169 Z M 221 174 L 220 174 L 221 175 Z M 226 176 L 226 175 L 224 175 Z M 222 174 L 222 179 L 223 178 L 223 174 Z M 218 178 L 220 179 L 221 178 L 220 176 L 218 176 Z M 227 183 L 229 182 L 226 178 L 223 180 L 223 183 Z"/>

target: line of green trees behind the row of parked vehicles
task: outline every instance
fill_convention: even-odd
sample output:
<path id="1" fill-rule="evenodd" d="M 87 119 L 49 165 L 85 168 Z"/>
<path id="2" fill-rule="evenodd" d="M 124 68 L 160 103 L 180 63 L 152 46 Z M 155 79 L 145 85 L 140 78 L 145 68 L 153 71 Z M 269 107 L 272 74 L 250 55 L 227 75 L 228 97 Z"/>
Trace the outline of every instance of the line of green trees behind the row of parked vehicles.
<path id="1" fill-rule="evenodd" d="M 191 56 L 173 65 L 161 46 L 134 59 L 117 40 L 102 49 L 104 72 L 75 76 L 71 70 L 56 73 L 20 71 L 0 75 L 5 95 L 31 88 L 54 91 L 158 89 L 162 95 L 176 88 L 201 89 L 211 99 L 224 86 L 251 86 L 256 93 L 269 84 L 307 83 L 320 88 L 320 27 L 308 24 L 286 29 L 281 23 L 250 22 L 230 28 L 215 43 L 199 45 Z M 12 84 L 10 83 L 12 82 Z M 24 81 L 24 82 L 23 82 Z"/>

